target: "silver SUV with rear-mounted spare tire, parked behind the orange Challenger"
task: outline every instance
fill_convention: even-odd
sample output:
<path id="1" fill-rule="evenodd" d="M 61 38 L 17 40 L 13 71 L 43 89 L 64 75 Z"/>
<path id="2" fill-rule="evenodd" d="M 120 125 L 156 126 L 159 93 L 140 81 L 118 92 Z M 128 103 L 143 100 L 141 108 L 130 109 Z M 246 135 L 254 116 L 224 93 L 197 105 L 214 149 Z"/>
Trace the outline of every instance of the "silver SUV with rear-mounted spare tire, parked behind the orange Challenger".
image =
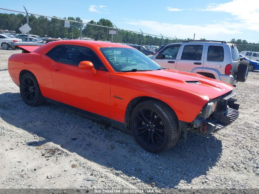
<path id="1" fill-rule="evenodd" d="M 249 70 L 249 62 L 240 62 L 237 46 L 225 41 L 168 44 L 150 58 L 161 67 L 198 73 L 231 85 L 245 82 Z"/>

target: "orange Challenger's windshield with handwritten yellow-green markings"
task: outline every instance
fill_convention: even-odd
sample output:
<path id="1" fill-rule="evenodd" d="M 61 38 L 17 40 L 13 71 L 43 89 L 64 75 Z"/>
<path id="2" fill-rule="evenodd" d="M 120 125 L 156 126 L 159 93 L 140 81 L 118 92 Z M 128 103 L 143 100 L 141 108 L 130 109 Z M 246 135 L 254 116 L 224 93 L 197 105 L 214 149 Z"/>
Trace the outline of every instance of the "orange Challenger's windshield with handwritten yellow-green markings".
<path id="1" fill-rule="evenodd" d="M 136 49 L 107 47 L 100 51 L 116 72 L 162 69 Z"/>

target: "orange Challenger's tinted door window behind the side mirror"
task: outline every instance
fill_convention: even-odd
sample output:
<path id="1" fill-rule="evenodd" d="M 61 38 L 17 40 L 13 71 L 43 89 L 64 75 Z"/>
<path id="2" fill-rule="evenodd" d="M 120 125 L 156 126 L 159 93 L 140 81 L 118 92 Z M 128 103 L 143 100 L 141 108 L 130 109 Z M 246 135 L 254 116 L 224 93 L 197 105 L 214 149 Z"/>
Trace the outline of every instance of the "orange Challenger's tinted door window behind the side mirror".
<path id="1" fill-rule="evenodd" d="M 87 47 L 67 45 L 59 59 L 59 63 L 66 63 L 74 66 L 78 66 L 82 61 L 91 61 L 95 69 L 105 69 L 96 53 Z"/>

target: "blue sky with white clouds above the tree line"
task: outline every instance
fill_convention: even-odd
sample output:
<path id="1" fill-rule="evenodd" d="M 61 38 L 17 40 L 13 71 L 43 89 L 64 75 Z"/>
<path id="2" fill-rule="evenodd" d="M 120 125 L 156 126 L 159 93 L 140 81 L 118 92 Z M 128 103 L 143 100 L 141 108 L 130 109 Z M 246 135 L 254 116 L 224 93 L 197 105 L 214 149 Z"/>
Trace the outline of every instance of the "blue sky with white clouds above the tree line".
<path id="1" fill-rule="evenodd" d="M 259 42 L 259 0 L 35 0 L 5 1 L 2 8 L 83 21 L 109 19 L 118 28 L 177 38 Z"/>

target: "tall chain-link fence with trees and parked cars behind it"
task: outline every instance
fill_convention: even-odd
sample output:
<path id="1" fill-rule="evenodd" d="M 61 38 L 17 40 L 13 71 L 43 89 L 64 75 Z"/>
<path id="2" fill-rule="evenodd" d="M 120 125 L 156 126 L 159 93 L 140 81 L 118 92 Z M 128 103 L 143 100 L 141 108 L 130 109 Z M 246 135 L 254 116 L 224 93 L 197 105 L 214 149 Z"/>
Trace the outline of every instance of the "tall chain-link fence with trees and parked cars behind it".
<path id="1" fill-rule="evenodd" d="M 28 41 L 27 34 L 23 35 L 19 30 L 22 25 L 27 23 L 27 19 L 32 29 L 29 31 L 29 41 L 35 37 L 41 37 L 46 40 L 82 39 L 105 41 L 130 46 L 138 45 L 140 50 L 146 55 L 149 55 L 150 52 L 144 52 L 144 50 L 155 52 L 159 46 L 184 41 L 182 39 L 165 37 L 161 34 L 153 35 L 143 33 L 142 31 L 135 32 L 118 29 L 116 26 L 114 28 L 84 23 L 79 17 L 57 18 L 0 8 L 0 70 L 7 69 L 8 58 L 12 54 L 21 53 L 21 50 L 14 50 L 10 46 L 9 42 L 13 42 L 14 39 L 10 39 L 6 35 L 11 35 L 11 38 L 14 38 L 12 35 L 20 34 L 19 38 L 25 37 L 23 41 Z M 8 48 L 5 47 L 5 44 Z M 238 50 L 259 52 L 259 45 L 239 44 Z"/>

